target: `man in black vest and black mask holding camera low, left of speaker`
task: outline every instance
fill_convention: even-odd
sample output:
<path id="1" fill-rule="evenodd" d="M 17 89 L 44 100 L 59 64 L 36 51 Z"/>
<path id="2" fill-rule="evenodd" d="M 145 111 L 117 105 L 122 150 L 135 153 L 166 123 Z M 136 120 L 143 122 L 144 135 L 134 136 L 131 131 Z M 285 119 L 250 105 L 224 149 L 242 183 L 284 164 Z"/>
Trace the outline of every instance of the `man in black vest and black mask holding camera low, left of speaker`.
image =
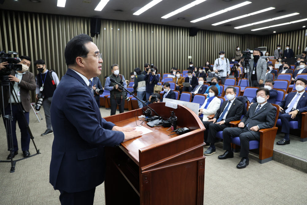
<path id="1" fill-rule="evenodd" d="M 41 134 L 41 136 L 50 135 L 53 133 L 51 119 L 50 119 L 50 106 L 52 101 L 53 93 L 56 89 L 56 86 L 59 84 L 59 78 L 56 73 L 46 69 L 45 61 L 40 59 L 34 62 L 35 67 L 38 70 L 38 74 L 35 78 L 36 80 L 36 98 L 38 93 L 43 94 L 43 108 L 46 118 L 46 131 Z"/>

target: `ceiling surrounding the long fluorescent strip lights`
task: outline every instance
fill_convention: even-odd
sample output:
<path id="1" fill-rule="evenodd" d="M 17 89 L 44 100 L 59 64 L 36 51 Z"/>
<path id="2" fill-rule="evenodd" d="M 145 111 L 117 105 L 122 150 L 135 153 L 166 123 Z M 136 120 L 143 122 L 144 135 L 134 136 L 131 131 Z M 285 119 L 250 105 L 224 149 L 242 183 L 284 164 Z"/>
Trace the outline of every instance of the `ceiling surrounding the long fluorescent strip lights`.
<path id="1" fill-rule="evenodd" d="M 65 7 L 57 7 L 57 0 L 41 0 L 41 3 L 33 3 L 29 0 L 5 0 L 4 4 L 0 5 L 0 8 L 48 14 L 96 17 L 132 22 L 163 24 L 170 26 L 196 27 L 204 30 L 223 31 L 236 34 L 267 35 L 273 34 L 273 31 L 276 31 L 276 33 L 281 33 L 291 30 L 303 29 L 302 26 L 307 26 L 307 21 L 304 21 L 265 29 L 267 31 L 251 31 L 252 29 L 307 18 L 307 4 L 305 1 L 301 0 L 248 0 L 252 3 L 196 23 L 191 23 L 190 21 L 245 2 L 246 0 L 207 0 L 167 19 L 163 19 L 161 17 L 193 2 L 194 0 L 162 0 L 160 3 L 153 6 L 146 12 L 138 16 L 133 15 L 135 11 L 151 1 L 152 0 L 110 0 L 102 11 L 95 11 L 94 9 L 100 0 L 91 0 L 90 3 L 84 3 L 84 0 L 66 0 Z M 212 26 L 214 23 L 266 9 L 268 7 L 275 7 L 275 9 L 263 12 L 261 14 L 255 14 L 253 16 L 220 24 L 218 26 Z M 122 12 L 115 10 L 122 10 Z M 248 26 L 241 29 L 234 29 L 236 26 L 242 26 L 245 24 L 292 14 L 295 12 L 300 14 L 288 18 L 282 18 L 270 22 Z M 178 20 L 177 18 L 185 19 Z M 224 26 L 225 24 L 231 24 L 231 26 Z"/>

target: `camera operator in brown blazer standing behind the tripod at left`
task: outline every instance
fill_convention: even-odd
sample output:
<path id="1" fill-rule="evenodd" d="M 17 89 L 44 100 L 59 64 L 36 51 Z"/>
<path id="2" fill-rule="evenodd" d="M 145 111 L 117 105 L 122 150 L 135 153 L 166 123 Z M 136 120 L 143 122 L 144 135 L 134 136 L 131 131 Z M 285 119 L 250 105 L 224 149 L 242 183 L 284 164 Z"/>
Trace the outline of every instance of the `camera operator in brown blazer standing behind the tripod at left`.
<path id="1" fill-rule="evenodd" d="M 35 80 L 34 80 L 34 74 L 30 73 L 28 71 L 29 66 L 31 65 L 31 59 L 28 56 L 21 56 L 20 57 L 20 63 L 22 65 L 21 71 L 12 71 L 9 75 L 9 80 L 13 83 L 10 88 L 11 90 L 4 90 L 3 93 L 3 101 L 4 101 L 4 112 L 5 114 L 10 114 L 10 102 L 12 103 L 12 113 L 13 113 L 13 120 L 12 120 L 12 137 L 13 137 L 13 158 L 18 154 L 18 144 L 17 144 L 17 137 L 16 137 L 16 122 L 18 122 L 18 126 L 20 128 L 21 132 L 21 150 L 23 152 L 24 157 L 30 156 L 29 152 L 29 144 L 30 144 L 30 135 L 27 130 L 27 124 L 24 121 L 24 118 L 22 116 L 22 110 L 20 110 L 20 105 L 23 108 L 25 119 L 27 120 L 27 123 L 29 124 L 29 111 L 31 109 L 30 105 L 30 90 L 35 90 Z M 3 62 L 0 64 L 0 70 L 4 69 L 7 65 L 7 62 Z M 3 67 L 4 66 L 4 67 Z M 13 87 L 15 90 L 15 93 L 13 91 Z M 1 91 L 0 91 L 1 92 Z M 10 95 L 11 93 L 11 95 Z M 17 96 L 16 96 L 17 95 Z M 1 96 L 1 93 L 0 93 Z M 1 108 L 2 108 L 2 100 L 0 102 Z M 3 117 L 3 110 L 2 110 L 2 117 Z M 3 118 L 4 125 L 6 125 L 7 119 Z M 10 132 L 10 131 L 8 131 Z M 8 160 L 11 159 L 11 155 L 7 157 Z"/>

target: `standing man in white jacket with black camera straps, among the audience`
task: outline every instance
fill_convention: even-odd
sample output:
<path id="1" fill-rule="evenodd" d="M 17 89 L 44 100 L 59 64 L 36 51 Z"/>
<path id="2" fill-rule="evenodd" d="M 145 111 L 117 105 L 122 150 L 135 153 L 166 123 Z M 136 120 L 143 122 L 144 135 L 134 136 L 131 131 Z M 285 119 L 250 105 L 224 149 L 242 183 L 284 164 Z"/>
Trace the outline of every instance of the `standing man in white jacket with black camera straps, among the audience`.
<path id="1" fill-rule="evenodd" d="M 219 55 L 220 57 L 214 61 L 213 70 L 215 73 L 220 73 L 221 83 L 224 85 L 230 74 L 230 64 L 228 58 L 225 57 L 225 51 L 221 50 Z"/>

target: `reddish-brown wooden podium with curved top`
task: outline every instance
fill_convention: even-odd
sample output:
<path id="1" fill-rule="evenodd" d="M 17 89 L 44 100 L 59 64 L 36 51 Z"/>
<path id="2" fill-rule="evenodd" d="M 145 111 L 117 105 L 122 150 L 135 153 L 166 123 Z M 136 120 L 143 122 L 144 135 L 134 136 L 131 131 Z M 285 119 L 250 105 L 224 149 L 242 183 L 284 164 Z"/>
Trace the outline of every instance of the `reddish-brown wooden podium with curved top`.
<path id="1" fill-rule="evenodd" d="M 173 109 L 165 103 L 154 103 L 150 107 L 165 118 L 174 110 L 177 126 L 191 131 L 169 136 L 171 129 L 143 123 L 153 132 L 122 142 L 119 147 L 105 147 L 106 204 L 203 204 L 204 125 L 184 106 Z M 104 119 L 120 127 L 136 127 L 141 124 L 140 115 L 142 110 L 137 109 Z"/>

